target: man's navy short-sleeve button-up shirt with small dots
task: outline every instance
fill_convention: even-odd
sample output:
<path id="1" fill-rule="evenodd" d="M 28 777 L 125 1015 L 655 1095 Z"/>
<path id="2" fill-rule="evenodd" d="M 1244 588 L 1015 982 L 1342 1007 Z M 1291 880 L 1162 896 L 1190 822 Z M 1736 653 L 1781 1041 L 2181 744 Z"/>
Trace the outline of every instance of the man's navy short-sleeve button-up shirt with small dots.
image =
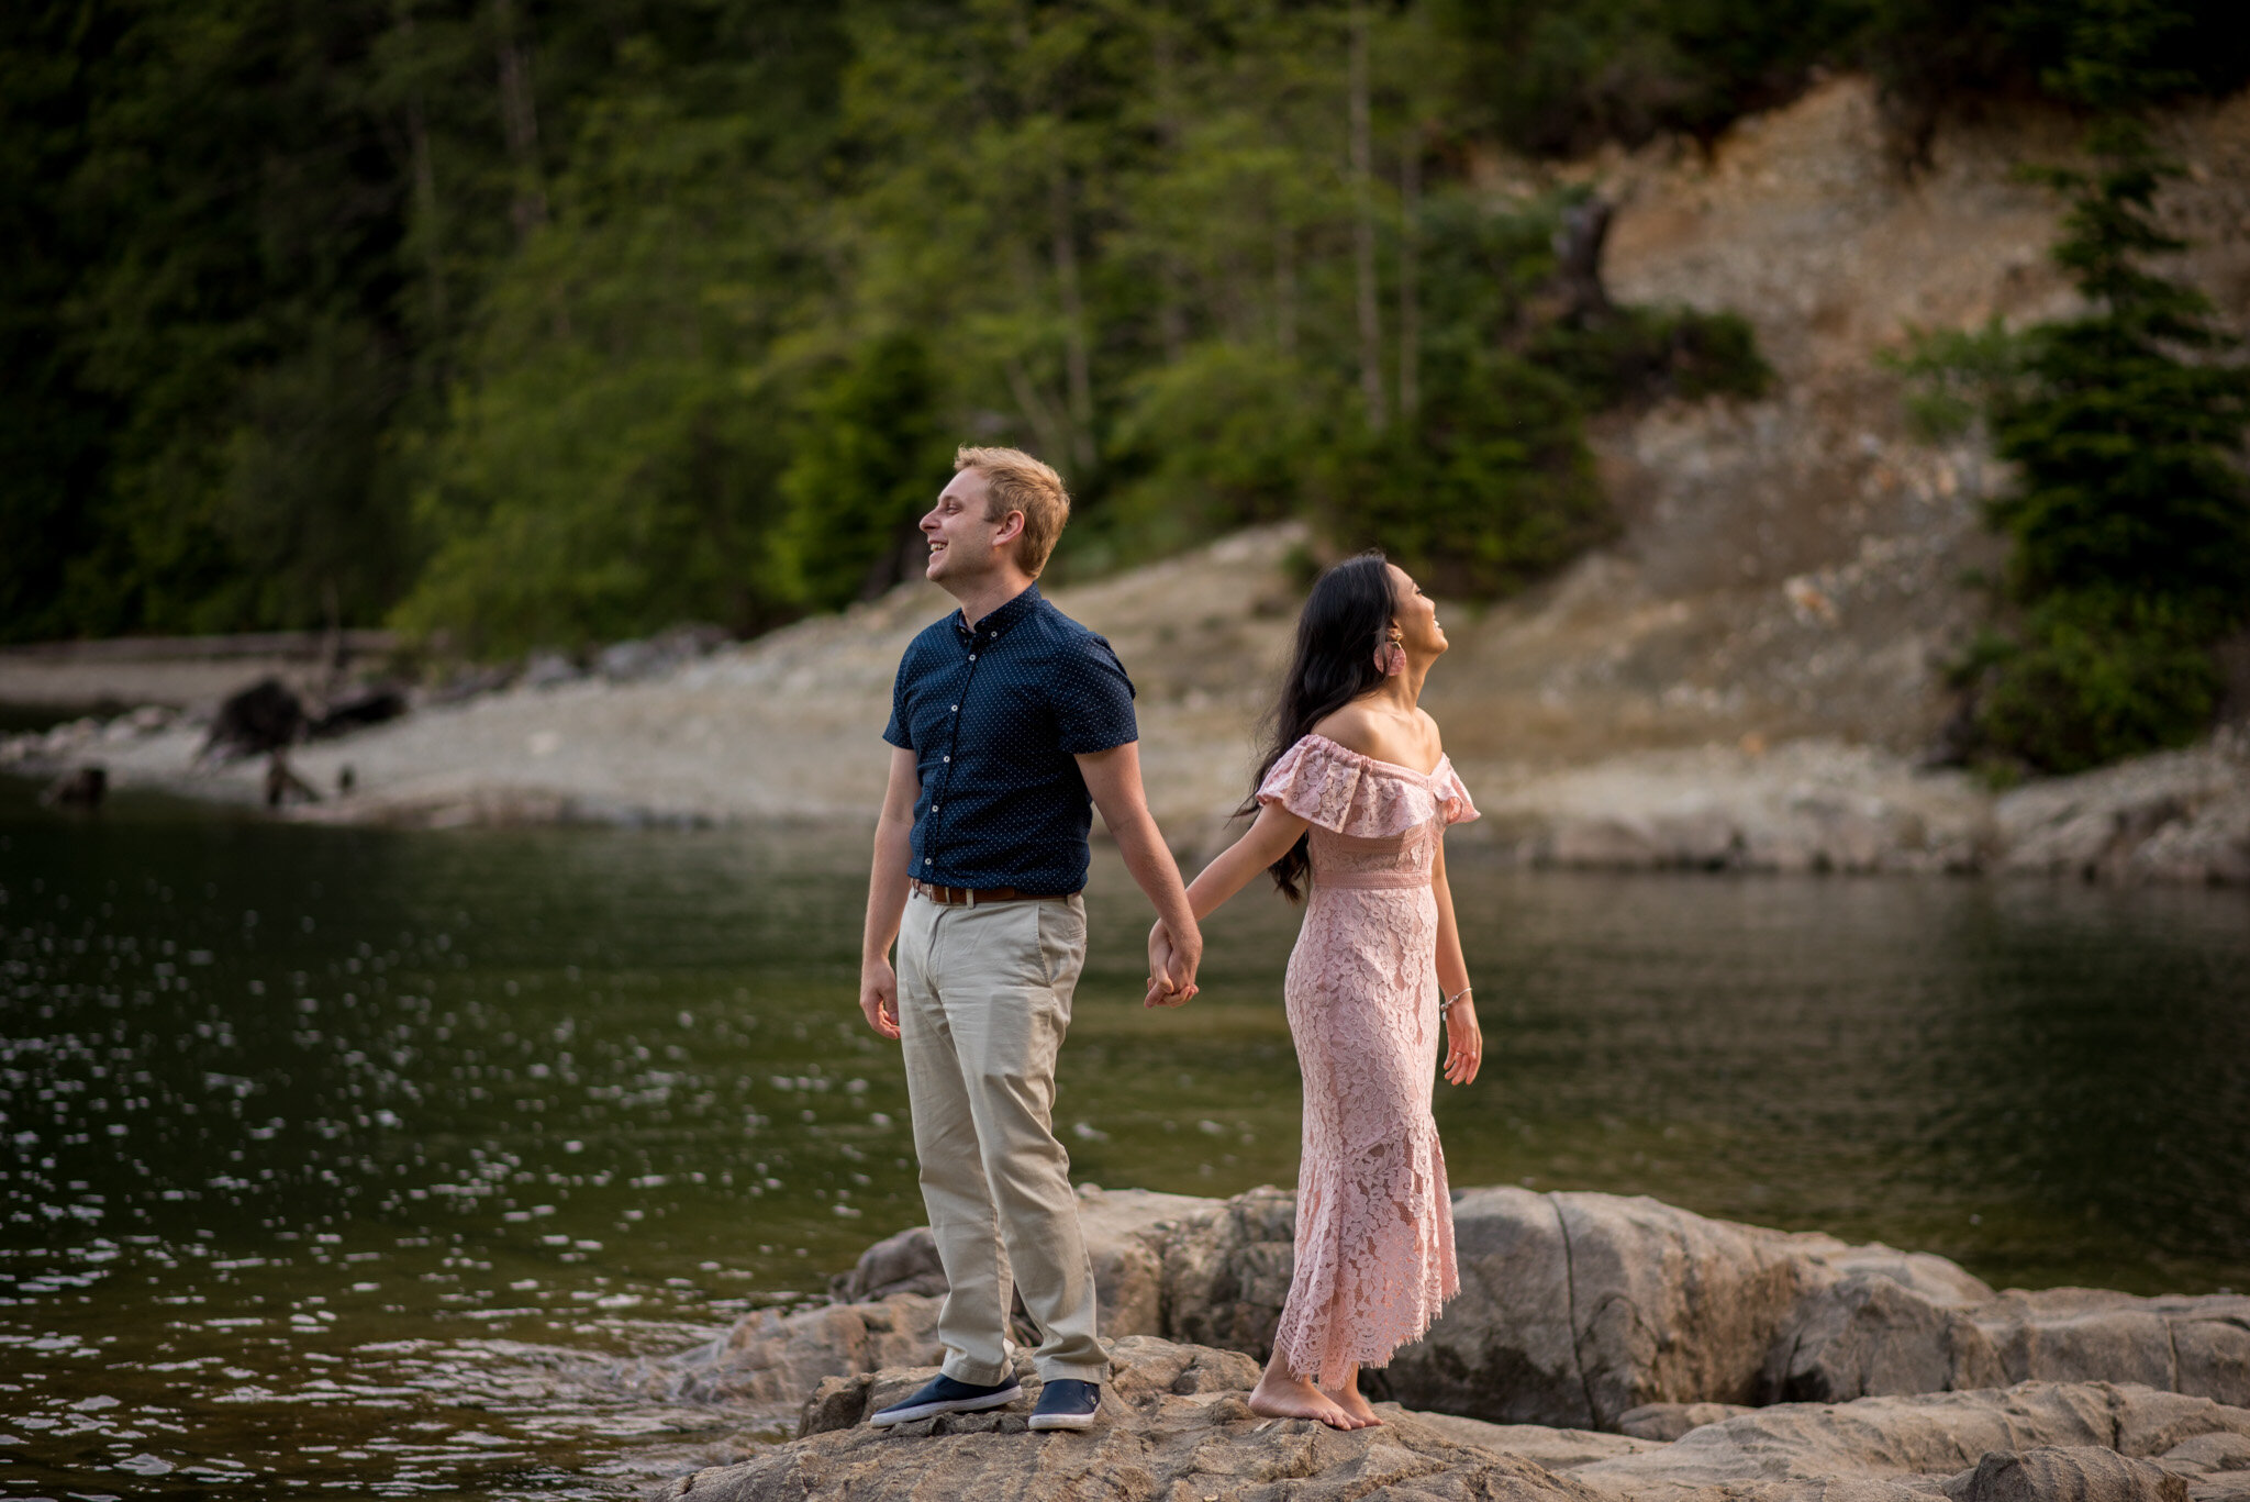
<path id="1" fill-rule="evenodd" d="M 1138 739 L 1109 642 L 1026 588 L 907 646 L 882 739 L 914 752 L 914 876 L 1062 896 L 1087 885 L 1094 799 L 1073 757 Z"/>

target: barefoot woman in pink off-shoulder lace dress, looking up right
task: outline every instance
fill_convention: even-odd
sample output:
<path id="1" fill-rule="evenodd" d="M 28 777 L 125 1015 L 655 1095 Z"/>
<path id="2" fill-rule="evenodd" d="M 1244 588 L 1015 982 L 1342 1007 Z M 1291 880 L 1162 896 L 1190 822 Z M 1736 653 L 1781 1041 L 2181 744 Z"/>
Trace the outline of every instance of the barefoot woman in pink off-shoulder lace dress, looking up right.
<path id="1" fill-rule="evenodd" d="M 1442 1016 L 1444 1076 L 1467 1085 L 1483 1036 L 1442 842 L 1476 808 L 1420 707 L 1442 651 L 1436 606 L 1382 554 L 1323 574 L 1242 806 L 1258 822 L 1188 885 L 1202 919 L 1262 869 L 1289 901 L 1312 878 L 1285 986 L 1305 1074 L 1296 1272 L 1251 1412 L 1339 1430 L 1379 1423 L 1359 1367 L 1460 1290 L 1429 1058 Z M 1150 944 L 1161 977 L 1161 926 Z"/>

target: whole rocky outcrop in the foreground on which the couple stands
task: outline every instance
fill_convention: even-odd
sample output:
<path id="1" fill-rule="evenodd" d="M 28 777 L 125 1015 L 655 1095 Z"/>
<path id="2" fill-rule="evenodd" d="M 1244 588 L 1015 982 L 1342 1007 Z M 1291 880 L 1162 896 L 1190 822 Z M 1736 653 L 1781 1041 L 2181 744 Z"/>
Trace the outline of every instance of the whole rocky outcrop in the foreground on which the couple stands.
<path id="1" fill-rule="evenodd" d="M 1091 1432 L 1024 1428 L 1022 1353 L 1010 1410 L 862 1423 L 938 1356 L 943 1281 L 909 1230 L 828 1304 L 623 1371 L 792 1432 L 652 1495 L 2250 1502 L 2250 1297 L 1996 1293 L 1942 1257 L 1649 1198 L 1469 1189 L 1462 1295 L 1368 1374 L 1386 1425 L 1336 1434 L 1244 1403 L 1292 1196 L 1087 1187 L 1080 1207 L 1116 1362 Z"/>

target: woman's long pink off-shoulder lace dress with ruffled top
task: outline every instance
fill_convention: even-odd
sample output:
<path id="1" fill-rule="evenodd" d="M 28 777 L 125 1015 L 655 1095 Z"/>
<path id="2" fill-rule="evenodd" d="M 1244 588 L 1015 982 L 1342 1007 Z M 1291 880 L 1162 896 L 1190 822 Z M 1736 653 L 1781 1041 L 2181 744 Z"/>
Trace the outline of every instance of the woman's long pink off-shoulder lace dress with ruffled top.
<path id="1" fill-rule="evenodd" d="M 1460 1293 L 1454 1203 L 1429 1115 L 1440 1031 L 1431 865 L 1476 817 L 1440 759 L 1429 775 L 1305 736 L 1258 802 L 1312 824 L 1312 901 L 1287 1004 L 1305 1074 L 1296 1272 L 1274 1333 L 1298 1378 L 1379 1367 Z"/>

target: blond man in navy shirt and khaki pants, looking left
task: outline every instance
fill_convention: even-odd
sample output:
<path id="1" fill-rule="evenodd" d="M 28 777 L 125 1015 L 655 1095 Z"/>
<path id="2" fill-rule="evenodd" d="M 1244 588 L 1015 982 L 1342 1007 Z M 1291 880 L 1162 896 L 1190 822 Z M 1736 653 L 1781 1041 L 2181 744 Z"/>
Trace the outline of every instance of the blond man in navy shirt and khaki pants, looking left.
<path id="1" fill-rule="evenodd" d="M 1094 1338 L 1094 1268 L 1051 1126 L 1087 959 L 1089 799 L 1172 944 L 1161 971 L 1152 959 L 1152 1000 L 1195 995 L 1204 939 L 1141 793 L 1132 682 L 1109 644 L 1033 583 L 1069 513 L 1046 464 L 963 448 L 922 518 L 925 574 L 961 610 L 907 646 L 891 689 L 860 1009 L 904 1045 L 922 1203 L 945 1263 L 945 1367 L 878 1425 L 1022 1396 L 1006 1353 L 1010 1286 L 1042 1338 L 1030 1428 L 1082 1430 L 1100 1407 L 1109 1358 Z"/>

